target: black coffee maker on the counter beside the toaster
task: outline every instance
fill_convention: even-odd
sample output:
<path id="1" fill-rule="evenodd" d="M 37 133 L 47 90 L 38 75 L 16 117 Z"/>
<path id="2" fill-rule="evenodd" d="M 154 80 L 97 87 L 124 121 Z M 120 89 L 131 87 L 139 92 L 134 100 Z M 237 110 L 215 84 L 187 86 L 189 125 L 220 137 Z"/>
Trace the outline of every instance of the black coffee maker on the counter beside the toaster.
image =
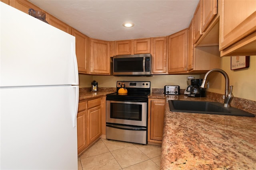
<path id="1" fill-rule="evenodd" d="M 191 79 L 191 85 L 187 87 L 186 91 L 189 91 L 190 97 L 205 97 L 206 92 L 204 88 L 200 88 L 203 79 Z"/>

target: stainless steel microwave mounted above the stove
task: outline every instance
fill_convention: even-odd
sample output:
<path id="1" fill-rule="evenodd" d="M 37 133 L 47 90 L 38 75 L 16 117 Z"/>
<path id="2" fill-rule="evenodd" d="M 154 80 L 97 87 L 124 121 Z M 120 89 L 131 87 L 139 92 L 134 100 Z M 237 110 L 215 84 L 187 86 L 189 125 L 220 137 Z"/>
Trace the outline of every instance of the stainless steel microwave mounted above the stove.
<path id="1" fill-rule="evenodd" d="M 113 75 L 150 76 L 151 54 L 114 56 Z"/>

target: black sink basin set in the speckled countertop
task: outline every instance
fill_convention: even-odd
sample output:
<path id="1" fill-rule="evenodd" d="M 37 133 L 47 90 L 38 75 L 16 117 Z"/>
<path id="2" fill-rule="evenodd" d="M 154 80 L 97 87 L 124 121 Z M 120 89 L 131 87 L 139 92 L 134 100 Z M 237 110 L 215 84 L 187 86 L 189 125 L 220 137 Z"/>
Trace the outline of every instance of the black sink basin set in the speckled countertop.
<path id="1" fill-rule="evenodd" d="M 255 117 L 252 113 L 234 107 L 224 107 L 223 104 L 218 102 L 185 100 L 169 100 L 168 102 L 170 111 Z"/>

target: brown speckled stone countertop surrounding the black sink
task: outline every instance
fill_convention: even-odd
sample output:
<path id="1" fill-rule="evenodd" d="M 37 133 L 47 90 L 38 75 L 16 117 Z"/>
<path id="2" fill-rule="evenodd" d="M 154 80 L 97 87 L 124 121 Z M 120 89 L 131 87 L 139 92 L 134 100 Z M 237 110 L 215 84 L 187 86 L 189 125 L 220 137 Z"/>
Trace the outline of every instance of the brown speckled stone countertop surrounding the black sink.
<path id="1" fill-rule="evenodd" d="M 184 95 L 176 99 L 213 101 Z M 161 170 L 256 169 L 256 117 L 169 110 L 166 100 Z"/>

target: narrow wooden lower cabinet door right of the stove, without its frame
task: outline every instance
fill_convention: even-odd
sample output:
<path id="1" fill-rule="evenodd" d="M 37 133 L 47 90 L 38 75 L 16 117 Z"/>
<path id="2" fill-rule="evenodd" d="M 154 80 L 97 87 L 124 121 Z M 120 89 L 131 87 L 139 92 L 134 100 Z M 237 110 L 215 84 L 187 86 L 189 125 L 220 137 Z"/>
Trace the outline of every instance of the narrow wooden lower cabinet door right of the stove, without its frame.
<path id="1" fill-rule="evenodd" d="M 150 140 L 162 141 L 165 100 L 152 100 L 150 103 Z"/>

